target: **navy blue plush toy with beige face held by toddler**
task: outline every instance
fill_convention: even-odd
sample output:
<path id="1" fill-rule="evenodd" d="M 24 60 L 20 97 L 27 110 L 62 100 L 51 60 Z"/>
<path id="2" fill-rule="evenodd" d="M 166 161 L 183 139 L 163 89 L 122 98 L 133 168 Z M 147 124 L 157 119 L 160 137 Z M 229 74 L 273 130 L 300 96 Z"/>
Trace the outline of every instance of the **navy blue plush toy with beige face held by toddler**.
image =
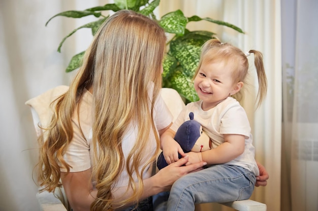
<path id="1" fill-rule="evenodd" d="M 202 130 L 201 124 L 194 120 L 193 112 L 189 113 L 189 117 L 190 120 L 183 122 L 178 128 L 174 140 L 180 144 L 185 153 L 189 151 L 203 152 L 211 149 L 210 138 Z M 180 158 L 181 155 L 179 154 L 179 159 Z M 164 154 L 161 152 L 157 160 L 157 167 L 161 170 L 167 165 L 168 163 L 165 160 Z"/>

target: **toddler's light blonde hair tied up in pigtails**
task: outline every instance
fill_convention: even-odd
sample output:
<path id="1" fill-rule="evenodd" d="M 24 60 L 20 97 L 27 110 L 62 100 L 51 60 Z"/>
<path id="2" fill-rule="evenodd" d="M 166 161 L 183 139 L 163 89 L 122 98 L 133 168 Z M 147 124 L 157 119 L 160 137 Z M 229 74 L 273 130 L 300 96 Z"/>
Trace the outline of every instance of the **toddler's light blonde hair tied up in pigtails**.
<path id="1" fill-rule="evenodd" d="M 197 76 L 201 68 L 201 65 L 204 62 L 210 63 L 214 61 L 224 60 L 226 62 L 231 62 L 232 66 L 236 65 L 235 69 L 232 71 L 234 82 L 242 81 L 246 83 L 246 76 L 248 74 L 249 68 L 247 56 L 250 53 L 254 54 L 254 64 L 256 67 L 259 81 L 259 90 L 257 95 L 258 108 L 261 105 L 267 93 L 267 78 L 264 69 L 263 55 L 260 51 L 250 50 L 245 54 L 239 48 L 229 43 L 221 43 L 221 41 L 216 38 L 209 39 L 202 46 L 201 57 L 194 78 Z M 241 89 L 238 93 L 235 94 L 237 100 L 242 99 L 242 91 L 243 90 Z"/>

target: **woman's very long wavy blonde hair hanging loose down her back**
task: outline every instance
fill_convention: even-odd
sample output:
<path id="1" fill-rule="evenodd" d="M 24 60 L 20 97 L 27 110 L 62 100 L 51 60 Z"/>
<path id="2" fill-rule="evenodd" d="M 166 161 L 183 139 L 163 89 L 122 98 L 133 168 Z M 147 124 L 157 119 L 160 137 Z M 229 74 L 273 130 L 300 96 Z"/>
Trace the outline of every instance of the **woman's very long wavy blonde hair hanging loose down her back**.
<path id="1" fill-rule="evenodd" d="M 129 199 L 137 202 L 143 192 L 143 172 L 155 160 L 159 150 L 153 108 L 162 86 L 162 61 L 165 52 L 165 31 L 153 20 L 133 11 L 121 10 L 110 16 L 94 36 L 82 67 L 67 93 L 54 102 L 55 112 L 40 141 L 39 175 L 44 190 L 61 186 L 60 167 L 70 172 L 63 159 L 73 138 L 72 115 L 84 88 L 93 92 L 92 139 L 94 165 L 92 176 L 98 190 L 91 210 L 112 210 L 112 187 L 123 168 L 134 190 Z M 153 82 L 153 96 L 149 85 Z M 138 125 L 136 144 L 124 160 L 121 142 L 131 123 Z M 155 135 L 156 153 L 142 162 L 143 146 L 149 135 Z M 140 167 L 141 170 L 139 169 Z M 137 183 L 133 175 L 137 176 Z"/>

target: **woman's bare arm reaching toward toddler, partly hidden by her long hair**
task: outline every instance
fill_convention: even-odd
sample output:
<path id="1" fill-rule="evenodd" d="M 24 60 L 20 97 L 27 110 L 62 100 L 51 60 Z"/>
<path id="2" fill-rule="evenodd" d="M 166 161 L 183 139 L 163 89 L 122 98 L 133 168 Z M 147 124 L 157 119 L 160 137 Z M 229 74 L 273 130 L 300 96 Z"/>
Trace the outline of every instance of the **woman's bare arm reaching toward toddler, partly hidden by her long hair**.
<path id="1" fill-rule="evenodd" d="M 145 199 L 163 191 L 169 191 L 172 184 L 177 179 L 190 172 L 201 170 L 202 167 L 206 165 L 205 162 L 198 162 L 183 166 L 187 161 L 188 157 L 185 156 L 177 162 L 166 166 L 154 176 L 145 179 L 143 181 L 144 191 L 139 200 Z M 89 211 L 90 204 L 94 201 L 94 198 L 96 198 L 97 195 L 97 190 L 93 189 L 90 180 L 91 170 L 89 169 L 83 172 L 74 172 L 68 174 L 61 173 L 61 175 L 62 184 L 72 209 L 74 211 Z M 125 191 L 126 187 L 118 188 L 113 192 L 113 197 L 118 200 L 128 198 L 132 190 L 128 190 L 125 195 L 122 195 L 122 193 Z M 132 204 L 126 204 L 126 206 L 129 205 Z"/>

